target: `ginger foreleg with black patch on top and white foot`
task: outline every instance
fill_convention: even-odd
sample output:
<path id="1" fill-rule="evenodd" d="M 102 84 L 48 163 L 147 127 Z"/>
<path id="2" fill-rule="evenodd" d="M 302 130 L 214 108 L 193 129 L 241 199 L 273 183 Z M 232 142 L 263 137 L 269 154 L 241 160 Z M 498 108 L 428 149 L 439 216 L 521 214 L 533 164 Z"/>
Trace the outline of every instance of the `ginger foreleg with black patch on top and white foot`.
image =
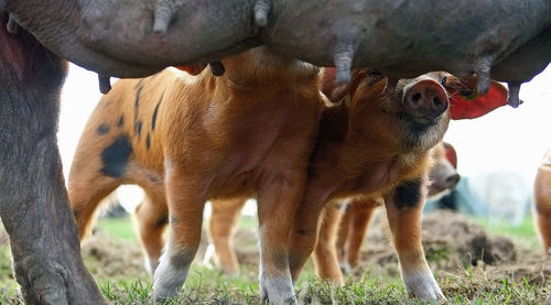
<path id="1" fill-rule="evenodd" d="M 444 298 L 424 258 L 421 213 L 426 198 L 426 177 L 404 182 L 385 197 L 388 222 L 406 290 L 422 299 Z"/>

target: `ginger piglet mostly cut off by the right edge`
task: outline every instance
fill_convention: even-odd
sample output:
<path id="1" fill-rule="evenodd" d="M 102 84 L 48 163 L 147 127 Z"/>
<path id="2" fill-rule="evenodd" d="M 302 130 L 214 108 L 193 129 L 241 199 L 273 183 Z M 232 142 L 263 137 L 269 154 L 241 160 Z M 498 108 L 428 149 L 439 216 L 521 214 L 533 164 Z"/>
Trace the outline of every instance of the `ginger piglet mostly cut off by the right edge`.
<path id="1" fill-rule="evenodd" d="M 541 159 L 533 182 L 533 219 L 544 253 L 551 254 L 551 150 Z"/>

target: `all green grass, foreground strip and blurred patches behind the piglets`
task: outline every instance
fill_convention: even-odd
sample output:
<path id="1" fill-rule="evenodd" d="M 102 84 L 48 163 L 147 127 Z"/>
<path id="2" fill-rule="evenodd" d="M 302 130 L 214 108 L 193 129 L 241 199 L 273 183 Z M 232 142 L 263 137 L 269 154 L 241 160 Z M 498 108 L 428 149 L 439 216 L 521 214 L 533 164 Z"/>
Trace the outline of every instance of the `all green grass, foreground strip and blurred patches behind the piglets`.
<path id="1" fill-rule="evenodd" d="M 485 219 L 475 219 L 475 222 L 497 235 L 531 240 L 530 243 L 539 247 L 529 218 L 519 227 Z M 136 242 L 129 218 L 99 219 L 97 226 L 115 242 Z M 244 217 L 240 227 L 256 230 L 256 219 Z M 443 260 L 447 254 L 445 251 L 428 253 L 428 260 Z M 85 258 L 90 270 L 97 268 L 96 260 Z M 240 268 L 239 276 L 227 276 L 217 268 L 193 264 L 184 288 L 164 304 L 260 304 L 258 266 L 244 263 Z M 313 268 L 309 263 L 296 286 L 298 301 L 300 304 L 425 304 L 408 295 L 396 272 L 368 269 L 356 275 L 347 275 L 346 285 L 335 286 L 313 276 Z M 17 283 L 10 274 L 9 251 L 7 247 L 1 247 L 0 304 L 20 304 Z M 112 304 L 153 304 L 149 298 L 152 285 L 150 276 L 94 276 L 104 296 Z M 547 280 L 531 283 L 527 279 L 515 282 L 509 276 L 495 277 L 484 265 L 468 266 L 443 275 L 440 273 L 437 279 L 447 297 L 443 302 L 445 304 L 551 304 L 551 284 Z"/>

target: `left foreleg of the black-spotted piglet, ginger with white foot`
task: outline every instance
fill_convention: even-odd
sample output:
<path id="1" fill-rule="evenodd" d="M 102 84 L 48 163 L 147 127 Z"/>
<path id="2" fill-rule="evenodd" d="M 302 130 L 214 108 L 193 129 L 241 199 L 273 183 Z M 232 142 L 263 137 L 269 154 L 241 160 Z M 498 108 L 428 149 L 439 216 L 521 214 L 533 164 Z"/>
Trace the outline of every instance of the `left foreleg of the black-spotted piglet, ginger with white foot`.
<path id="1" fill-rule="evenodd" d="M 175 296 L 187 277 L 201 242 L 203 208 L 207 185 L 202 175 L 185 175 L 185 170 L 166 170 L 166 199 L 170 236 L 153 275 L 155 301 Z"/>

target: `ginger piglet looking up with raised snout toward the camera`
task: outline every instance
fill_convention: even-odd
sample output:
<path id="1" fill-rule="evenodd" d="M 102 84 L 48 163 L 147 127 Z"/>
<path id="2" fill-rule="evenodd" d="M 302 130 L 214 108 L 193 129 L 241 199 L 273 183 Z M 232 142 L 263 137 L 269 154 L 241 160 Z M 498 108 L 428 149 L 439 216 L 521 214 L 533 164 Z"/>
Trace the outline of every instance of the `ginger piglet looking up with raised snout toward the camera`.
<path id="1" fill-rule="evenodd" d="M 369 198 L 386 206 L 406 290 L 422 299 L 444 298 L 423 254 L 421 213 L 431 149 L 442 141 L 450 122 L 445 87 L 458 79 L 431 73 L 401 79 L 389 89 L 387 78 L 370 69 L 356 70 L 344 87 L 335 86 L 336 74 L 325 69 L 322 76 L 322 90 L 341 102 L 323 113 L 310 159 L 290 238 L 293 281 L 318 242 L 324 208 L 345 198 Z M 325 253 L 342 282 L 334 247 L 329 248 Z"/>

